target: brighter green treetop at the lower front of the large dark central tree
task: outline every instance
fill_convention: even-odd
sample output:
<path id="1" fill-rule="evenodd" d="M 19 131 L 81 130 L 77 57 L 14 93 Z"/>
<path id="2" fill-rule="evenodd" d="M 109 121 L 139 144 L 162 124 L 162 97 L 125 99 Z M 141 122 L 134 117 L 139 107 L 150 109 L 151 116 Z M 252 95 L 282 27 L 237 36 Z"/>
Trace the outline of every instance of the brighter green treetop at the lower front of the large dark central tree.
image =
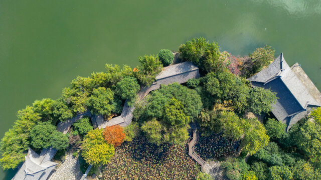
<path id="1" fill-rule="evenodd" d="M 185 115 L 182 103 L 175 97 L 171 98 L 164 106 L 163 121 L 173 126 L 184 126 L 190 122 L 190 117 Z"/>

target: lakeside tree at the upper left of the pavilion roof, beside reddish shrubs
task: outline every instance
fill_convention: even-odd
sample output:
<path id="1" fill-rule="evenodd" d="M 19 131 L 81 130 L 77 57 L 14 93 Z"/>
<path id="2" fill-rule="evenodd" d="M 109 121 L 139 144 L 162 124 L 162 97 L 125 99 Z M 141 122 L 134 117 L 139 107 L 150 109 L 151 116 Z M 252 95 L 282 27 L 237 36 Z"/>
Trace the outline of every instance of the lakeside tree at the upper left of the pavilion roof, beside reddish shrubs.
<path id="1" fill-rule="evenodd" d="M 269 45 L 256 48 L 250 57 L 253 61 L 253 72 L 258 72 L 262 67 L 268 65 L 270 61 L 274 60 L 275 49 Z"/>

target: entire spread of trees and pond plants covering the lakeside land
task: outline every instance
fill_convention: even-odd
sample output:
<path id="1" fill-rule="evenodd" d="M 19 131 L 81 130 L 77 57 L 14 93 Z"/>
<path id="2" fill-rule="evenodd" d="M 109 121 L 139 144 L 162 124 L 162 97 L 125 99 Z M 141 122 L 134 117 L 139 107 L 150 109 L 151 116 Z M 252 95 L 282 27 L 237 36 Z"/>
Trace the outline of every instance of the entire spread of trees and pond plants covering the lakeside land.
<path id="1" fill-rule="evenodd" d="M 17 167 L 29 146 L 62 152 L 69 146 L 86 166 L 98 169 L 102 164 L 105 179 L 210 179 L 188 156 L 189 129 L 198 127 L 196 152 L 221 161 L 228 179 L 320 178 L 320 108 L 311 113 L 315 122 L 302 119 L 288 133 L 269 115 L 261 122 L 245 116 L 268 114 L 276 100 L 274 92 L 253 88 L 246 79 L 273 60 L 272 47 L 240 57 L 200 37 L 178 51 L 176 60 L 196 64 L 200 78 L 162 85 L 137 100 L 140 85 L 152 84 L 163 66 L 173 63 L 174 54 L 162 49 L 158 55 L 138 57 L 134 69 L 106 64 L 105 72 L 77 76 L 57 100 L 36 100 L 18 111 L 18 120 L 2 139 L 0 164 Z M 120 115 L 126 100 L 135 109 L 132 123 L 124 128 L 94 129 L 90 117 L 83 117 L 67 134 L 56 130 L 59 121 L 88 110 L 109 120 Z"/>

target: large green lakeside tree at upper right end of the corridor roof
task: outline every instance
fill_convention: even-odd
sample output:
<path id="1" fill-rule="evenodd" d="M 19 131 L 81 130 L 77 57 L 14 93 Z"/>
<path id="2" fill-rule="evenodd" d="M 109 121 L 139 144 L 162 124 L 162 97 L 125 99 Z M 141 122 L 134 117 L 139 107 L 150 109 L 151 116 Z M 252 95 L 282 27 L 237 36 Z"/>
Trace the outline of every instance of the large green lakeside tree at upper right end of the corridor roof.
<path id="1" fill-rule="evenodd" d="M 204 37 L 186 41 L 179 47 L 179 52 L 183 60 L 195 63 L 202 71 L 217 72 L 226 68 L 218 44 L 210 43 Z"/>

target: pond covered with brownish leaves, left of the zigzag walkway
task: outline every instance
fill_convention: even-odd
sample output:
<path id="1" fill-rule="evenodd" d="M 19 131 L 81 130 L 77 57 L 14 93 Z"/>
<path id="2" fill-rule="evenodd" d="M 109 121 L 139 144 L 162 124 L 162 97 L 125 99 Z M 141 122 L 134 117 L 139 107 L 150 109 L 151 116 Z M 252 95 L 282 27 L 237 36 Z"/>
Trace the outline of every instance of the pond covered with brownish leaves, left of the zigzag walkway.
<path id="1" fill-rule="evenodd" d="M 190 139 L 187 141 L 189 142 Z M 188 145 L 148 143 L 144 136 L 116 147 L 103 170 L 104 179 L 195 179 L 199 167 L 188 155 Z"/>

